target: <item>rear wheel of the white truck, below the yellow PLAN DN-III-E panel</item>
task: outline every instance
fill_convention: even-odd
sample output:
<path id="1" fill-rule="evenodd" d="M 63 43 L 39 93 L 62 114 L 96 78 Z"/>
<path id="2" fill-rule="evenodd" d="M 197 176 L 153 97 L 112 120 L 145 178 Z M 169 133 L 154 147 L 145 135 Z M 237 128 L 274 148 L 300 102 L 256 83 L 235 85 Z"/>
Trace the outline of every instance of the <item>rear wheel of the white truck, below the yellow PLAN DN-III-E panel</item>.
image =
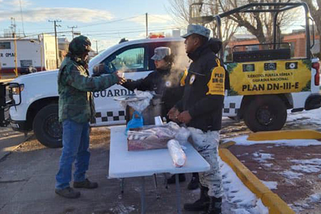
<path id="1" fill-rule="evenodd" d="M 287 108 L 279 96 L 256 96 L 245 107 L 244 122 L 251 131 L 280 130 L 287 121 Z"/>

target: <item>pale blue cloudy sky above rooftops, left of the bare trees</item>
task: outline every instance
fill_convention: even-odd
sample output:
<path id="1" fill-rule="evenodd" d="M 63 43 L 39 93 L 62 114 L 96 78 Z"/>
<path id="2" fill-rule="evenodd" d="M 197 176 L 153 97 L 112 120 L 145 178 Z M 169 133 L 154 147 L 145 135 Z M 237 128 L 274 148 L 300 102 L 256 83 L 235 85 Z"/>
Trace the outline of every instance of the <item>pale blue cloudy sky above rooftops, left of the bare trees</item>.
<path id="1" fill-rule="evenodd" d="M 88 36 L 93 49 L 97 44 L 101 51 L 124 37 L 145 38 L 146 13 L 148 33 L 171 34 L 172 29 L 185 29 L 175 23 L 169 8 L 168 0 L 0 0 L 0 35 L 11 26 L 11 17 L 15 19 L 17 34 L 24 31 L 26 36 L 53 33 L 54 23 L 49 20 L 58 20 L 59 37 L 70 41 L 71 27 L 76 26 L 73 31 Z"/>

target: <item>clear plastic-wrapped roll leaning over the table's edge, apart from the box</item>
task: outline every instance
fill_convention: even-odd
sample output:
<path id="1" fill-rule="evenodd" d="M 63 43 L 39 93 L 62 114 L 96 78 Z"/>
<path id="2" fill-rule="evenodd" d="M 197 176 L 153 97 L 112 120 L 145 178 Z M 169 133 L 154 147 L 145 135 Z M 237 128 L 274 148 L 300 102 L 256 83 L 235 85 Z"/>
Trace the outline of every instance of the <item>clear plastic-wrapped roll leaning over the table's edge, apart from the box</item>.
<path id="1" fill-rule="evenodd" d="M 183 149 L 180 147 L 180 143 L 177 140 L 172 139 L 168 141 L 167 147 L 175 167 L 182 167 L 185 164 L 186 156 Z"/>

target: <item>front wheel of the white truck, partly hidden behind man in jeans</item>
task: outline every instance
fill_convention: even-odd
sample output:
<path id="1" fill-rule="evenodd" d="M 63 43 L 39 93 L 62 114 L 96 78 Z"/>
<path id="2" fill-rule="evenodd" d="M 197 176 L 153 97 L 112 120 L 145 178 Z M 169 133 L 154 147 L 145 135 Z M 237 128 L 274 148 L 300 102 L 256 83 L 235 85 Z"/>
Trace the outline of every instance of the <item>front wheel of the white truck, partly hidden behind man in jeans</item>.
<path id="1" fill-rule="evenodd" d="M 46 147 L 62 147 L 62 126 L 58 122 L 58 104 L 41 108 L 33 123 L 37 140 Z"/>

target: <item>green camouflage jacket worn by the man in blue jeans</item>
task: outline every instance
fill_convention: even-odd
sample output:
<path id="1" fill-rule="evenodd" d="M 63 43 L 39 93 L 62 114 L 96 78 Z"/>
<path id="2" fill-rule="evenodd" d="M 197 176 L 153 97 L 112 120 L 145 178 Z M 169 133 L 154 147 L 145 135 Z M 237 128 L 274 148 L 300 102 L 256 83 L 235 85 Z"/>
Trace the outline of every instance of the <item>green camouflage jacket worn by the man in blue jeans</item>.
<path id="1" fill-rule="evenodd" d="M 59 121 L 95 123 L 91 91 L 102 91 L 117 82 L 116 74 L 90 77 L 88 69 L 67 56 L 58 73 Z"/>

